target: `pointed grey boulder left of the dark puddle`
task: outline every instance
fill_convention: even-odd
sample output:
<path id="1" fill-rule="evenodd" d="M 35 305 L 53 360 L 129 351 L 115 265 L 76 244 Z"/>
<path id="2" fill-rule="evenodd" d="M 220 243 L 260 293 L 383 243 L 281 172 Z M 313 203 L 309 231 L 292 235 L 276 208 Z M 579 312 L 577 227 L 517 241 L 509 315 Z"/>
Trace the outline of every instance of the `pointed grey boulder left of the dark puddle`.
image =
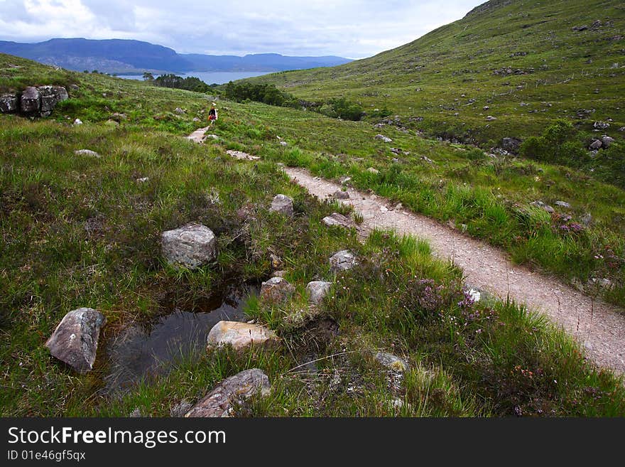
<path id="1" fill-rule="evenodd" d="M 78 308 L 67 313 L 45 346 L 50 353 L 80 373 L 92 369 L 100 329 L 107 318 L 93 308 Z"/>

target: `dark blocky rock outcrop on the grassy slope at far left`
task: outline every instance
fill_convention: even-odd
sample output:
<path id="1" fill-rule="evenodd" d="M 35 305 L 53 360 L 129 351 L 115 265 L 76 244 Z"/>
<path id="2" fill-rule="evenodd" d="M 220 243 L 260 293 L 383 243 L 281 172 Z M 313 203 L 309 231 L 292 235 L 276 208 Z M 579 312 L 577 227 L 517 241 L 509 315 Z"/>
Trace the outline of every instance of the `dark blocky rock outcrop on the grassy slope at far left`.
<path id="1" fill-rule="evenodd" d="M 23 92 L 0 96 L 0 112 L 20 112 L 29 117 L 49 117 L 56 104 L 70 98 L 62 86 L 28 86 Z"/>

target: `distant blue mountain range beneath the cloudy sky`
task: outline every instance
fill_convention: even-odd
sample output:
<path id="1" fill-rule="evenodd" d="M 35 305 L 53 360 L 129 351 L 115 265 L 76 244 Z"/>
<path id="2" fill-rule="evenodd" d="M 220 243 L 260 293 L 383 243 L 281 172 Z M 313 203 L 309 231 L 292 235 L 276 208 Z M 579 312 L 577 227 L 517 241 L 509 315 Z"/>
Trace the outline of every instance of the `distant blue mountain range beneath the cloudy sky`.
<path id="1" fill-rule="evenodd" d="M 254 55 L 180 54 L 163 45 L 109 39 L 50 39 L 39 43 L 0 41 L 0 53 L 57 65 L 67 70 L 98 70 L 103 73 L 185 73 L 190 71 L 305 70 L 332 67 L 352 60 L 342 57 L 288 57 L 278 53 Z"/>

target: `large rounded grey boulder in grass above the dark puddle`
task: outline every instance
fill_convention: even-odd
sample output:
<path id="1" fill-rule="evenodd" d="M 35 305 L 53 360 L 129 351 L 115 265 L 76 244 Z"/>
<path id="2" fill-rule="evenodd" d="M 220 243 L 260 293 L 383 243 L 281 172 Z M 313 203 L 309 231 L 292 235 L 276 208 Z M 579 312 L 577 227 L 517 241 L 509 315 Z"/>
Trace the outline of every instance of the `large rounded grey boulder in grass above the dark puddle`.
<path id="1" fill-rule="evenodd" d="M 190 223 L 161 236 L 163 256 L 173 266 L 195 269 L 217 258 L 217 238 L 205 225 Z"/>

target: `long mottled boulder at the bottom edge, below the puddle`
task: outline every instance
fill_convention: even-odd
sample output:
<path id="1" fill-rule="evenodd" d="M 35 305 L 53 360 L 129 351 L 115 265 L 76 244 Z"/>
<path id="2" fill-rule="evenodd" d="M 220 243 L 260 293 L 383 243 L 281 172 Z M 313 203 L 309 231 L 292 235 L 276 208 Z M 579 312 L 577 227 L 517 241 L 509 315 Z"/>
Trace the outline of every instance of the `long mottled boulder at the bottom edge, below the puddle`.
<path id="1" fill-rule="evenodd" d="M 185 417 L 229 417 L 232 404 L 254 394 L 266 396 L 271 390 L 269 378 L 259 368 L 244 370 L 220 382 Z"/>

